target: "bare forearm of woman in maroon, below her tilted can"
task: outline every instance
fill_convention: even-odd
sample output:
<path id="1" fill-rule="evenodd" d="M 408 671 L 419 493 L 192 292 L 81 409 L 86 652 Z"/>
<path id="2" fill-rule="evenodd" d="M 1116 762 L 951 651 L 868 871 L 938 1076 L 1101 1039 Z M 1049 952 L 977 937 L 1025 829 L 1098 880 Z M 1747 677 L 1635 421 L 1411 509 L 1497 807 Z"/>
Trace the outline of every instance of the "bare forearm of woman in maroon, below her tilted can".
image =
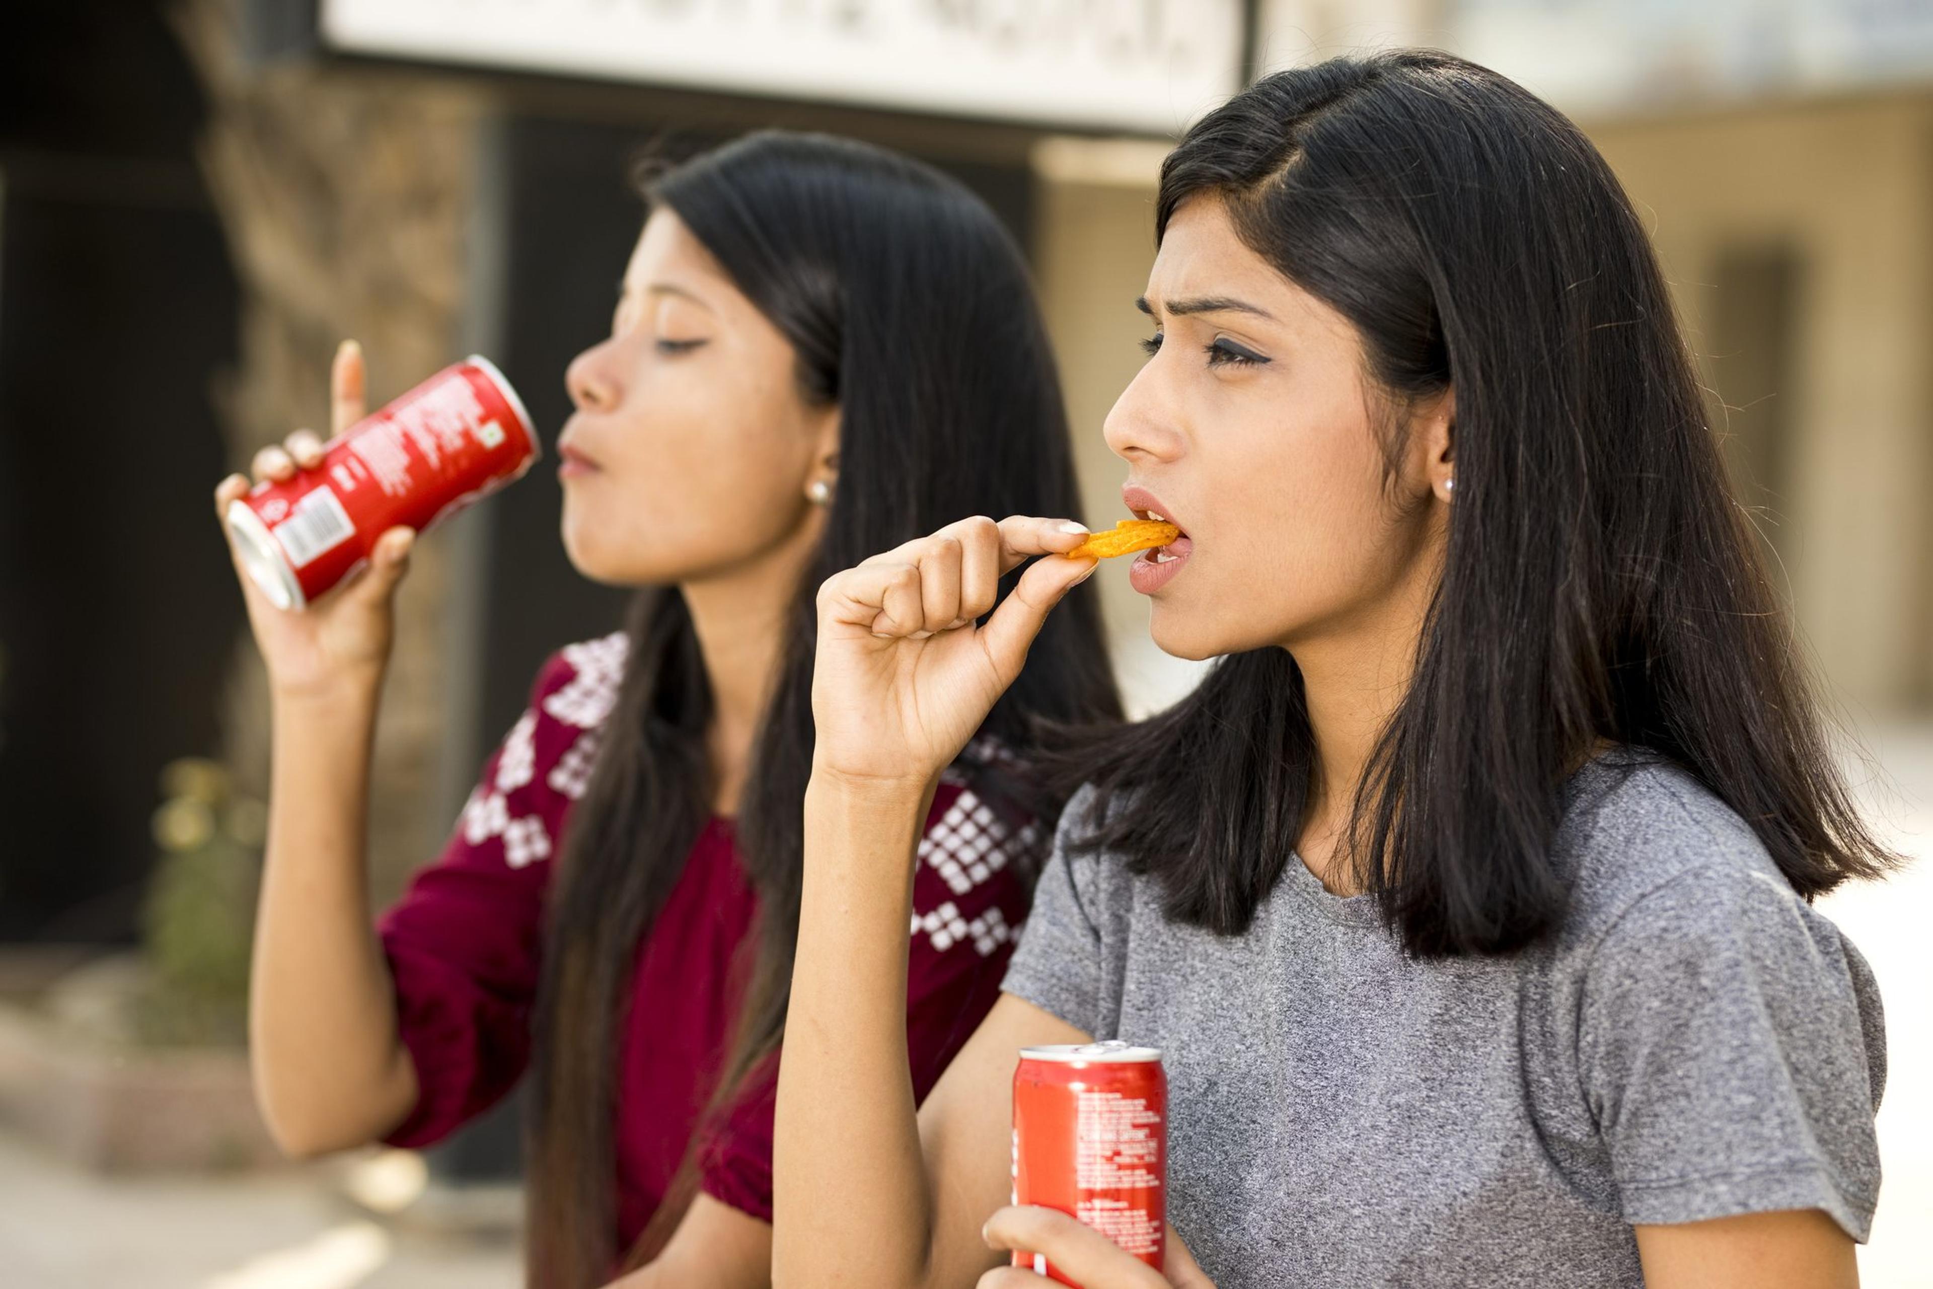
<path id="1" fill-rule="evenodd" d="M 276 702 L 249 1049 L 292 1154 L 373 1140 L 416 1100 L 389 966 L 369 922 L 373 684 Z"/>

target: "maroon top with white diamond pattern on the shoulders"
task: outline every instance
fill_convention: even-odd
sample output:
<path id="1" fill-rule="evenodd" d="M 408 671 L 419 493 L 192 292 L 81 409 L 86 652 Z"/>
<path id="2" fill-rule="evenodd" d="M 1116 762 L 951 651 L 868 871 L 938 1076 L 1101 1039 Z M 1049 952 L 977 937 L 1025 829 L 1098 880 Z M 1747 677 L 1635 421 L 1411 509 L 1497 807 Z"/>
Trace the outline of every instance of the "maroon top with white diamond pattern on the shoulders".
<path id="1" fill-rule="evenodd" d="M 530 709 L 483 767 L 443 858 L 410 883 L 379 933 L 418 1102 L 389 1134 L 425 1146 L 487 1109 L 530 1061 L 551 860 L 624 669 L 622 634 L 568 645 L 537 674 Z M 1007 860 L 1036 843 L 957 781 L 941 783 L 912 881 L 907 1044 L 918 1098 L 994 1005 L 1026 916 Z M 684 1160 L 740 1001 L 735 960 L 758 899 L 713 817 L 638 947 L 619 1047 L 619 1246 L 630 1246 Z M 775 1065 L 706 1125 L 700 1187 L 771 1221 Z"/>

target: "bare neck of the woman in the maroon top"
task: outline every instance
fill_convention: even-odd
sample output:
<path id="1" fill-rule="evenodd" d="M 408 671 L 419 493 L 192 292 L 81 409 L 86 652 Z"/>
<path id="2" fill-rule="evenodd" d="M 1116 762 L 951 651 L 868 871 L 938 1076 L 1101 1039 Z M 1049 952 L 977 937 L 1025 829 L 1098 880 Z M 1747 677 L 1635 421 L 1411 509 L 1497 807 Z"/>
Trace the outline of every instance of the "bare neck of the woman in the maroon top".
<path id="1" fill-rule="evenodd" d="M 711 808 L 736 814 L 752 740 L 771 698 L 787 642 L 785 615 L 818 545 L 820 524 L 802 524 L 777 547 L 723 572 L 678 584 L 711 682 Z"/>

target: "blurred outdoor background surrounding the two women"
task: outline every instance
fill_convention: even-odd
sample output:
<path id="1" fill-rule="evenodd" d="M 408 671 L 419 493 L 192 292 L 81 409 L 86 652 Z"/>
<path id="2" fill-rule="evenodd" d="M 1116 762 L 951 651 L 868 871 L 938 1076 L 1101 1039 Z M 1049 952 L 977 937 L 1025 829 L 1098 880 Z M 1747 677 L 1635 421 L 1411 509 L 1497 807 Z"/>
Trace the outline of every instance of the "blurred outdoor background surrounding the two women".
<path id="1" fill-rule="evenodd" d="M 288 1165 L 240 1046 L 265 696 L 213 483 L 495 358 L 545 437 L 609 327 L 644 149 L 756 126 L 924 157 L 1009 222 L 1088 518 L 1140 361 L 1166 141 L 1247 79 L 1432 44 L 1575 116 L 1635 197 L 1738 489 L 1898 845 L 1933 850 L 1933 0 L 15 0 L 0 41 L 0 1266 L 8 1285 L 518 1283 L 510 1105 L 423 1160 Z M 423 543 L 377 897 L 433 856 L 557 645 L 549 472 Z M 1195 669 L 1102 574 L 1137 709 Z M 1834 895 L 1892 1074 L 1867 1285 L 1933 1285 L 1933 877 Z"/>

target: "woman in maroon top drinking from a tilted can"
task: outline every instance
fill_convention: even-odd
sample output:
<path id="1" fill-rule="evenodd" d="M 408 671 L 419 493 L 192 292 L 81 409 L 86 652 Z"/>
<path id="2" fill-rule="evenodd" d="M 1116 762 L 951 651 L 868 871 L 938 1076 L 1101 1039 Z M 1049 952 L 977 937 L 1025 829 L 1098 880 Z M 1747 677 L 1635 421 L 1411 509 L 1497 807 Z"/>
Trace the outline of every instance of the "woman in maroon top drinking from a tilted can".
<path id="1" fill-rule="evenodd" d="M 298 1154 L 425 1144 L 528 1069 L 541 1289 L 638 1266 L 632 1289 L 767 1283 L 814 589 L 957 514 L 1075 504 L 1026 271 L 959 184 L 760 133 L 646 197 L 611 338 L 570 365 L 559 444 L 572 562 L 646 589 L 624 634 L 543 667 L 443 860 L 375 931 L 369 738 L 410 533 L 307 613 L 244 580 L 274 692 L 263 1109 Z M 338 427 L 360 390 L 346 350 Z M 257 472 L 317 452 L 298 435 Z M 922 804 L 897 1040 L 916 1092 L 994 1003 L 1057 812 L 1013 758 L 1038 721 L 1094 717 L 1119 707 L 1084 603 Z"/>

